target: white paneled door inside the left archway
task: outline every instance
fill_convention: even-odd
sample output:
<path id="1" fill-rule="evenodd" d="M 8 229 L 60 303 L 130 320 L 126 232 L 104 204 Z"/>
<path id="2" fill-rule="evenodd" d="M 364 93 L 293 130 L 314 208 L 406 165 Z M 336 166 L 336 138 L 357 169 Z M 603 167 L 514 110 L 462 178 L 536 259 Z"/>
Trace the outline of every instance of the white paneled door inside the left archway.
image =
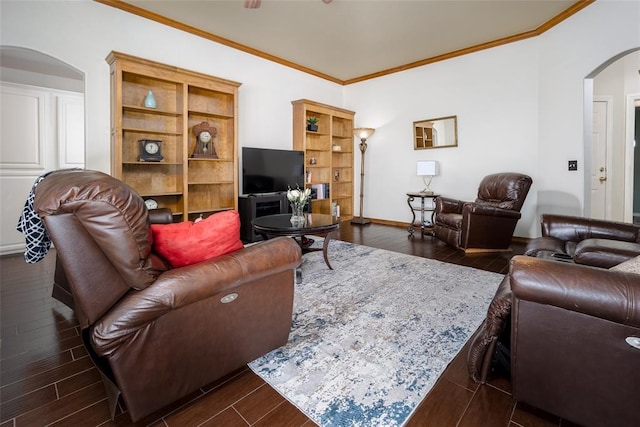
<path id="1" fill-rule="evenodd" d="M 22 252 L 16 224 L 36 178 L 84 167 L 84 96 L 0 84 L 0 254 Z"/>

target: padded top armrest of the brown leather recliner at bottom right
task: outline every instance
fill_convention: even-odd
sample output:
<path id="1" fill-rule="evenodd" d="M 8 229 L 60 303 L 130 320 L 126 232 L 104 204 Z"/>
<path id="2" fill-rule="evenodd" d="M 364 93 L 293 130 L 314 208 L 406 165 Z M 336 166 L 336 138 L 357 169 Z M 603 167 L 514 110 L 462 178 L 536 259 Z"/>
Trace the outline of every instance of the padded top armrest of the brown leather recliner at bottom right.
<path id="1" fill-rule="evenodd" d="M 509 274 L 514 300 L 640 327 L 640 275 L 526 256 L 511 259 Z"/>

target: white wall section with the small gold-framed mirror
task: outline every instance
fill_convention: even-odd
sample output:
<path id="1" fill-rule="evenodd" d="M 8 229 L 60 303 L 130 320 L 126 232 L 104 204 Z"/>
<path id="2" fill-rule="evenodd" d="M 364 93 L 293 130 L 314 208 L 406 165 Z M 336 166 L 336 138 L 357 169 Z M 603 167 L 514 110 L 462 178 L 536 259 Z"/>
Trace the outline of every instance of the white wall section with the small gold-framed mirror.
<path id="1" fill-rule="evenodd" d="M 463 200 L 475 199 L 487 174 L 535 176 L 536 46 L 510 44 L 347 87 L 347 108 L 358 112 L 358 125 L 376 128 L 368 141 L 365 216 L 411 219 L 406 192 L 422 188 L 418 160 L 440 164 L 432 190 Z M 413 149 L 414 121 L 449 115 L 458 116 L 458 147 Z M 535 206 L 532 196 L 525 211 Z M 531 218 L 525 214 L 521 224 Z"/>

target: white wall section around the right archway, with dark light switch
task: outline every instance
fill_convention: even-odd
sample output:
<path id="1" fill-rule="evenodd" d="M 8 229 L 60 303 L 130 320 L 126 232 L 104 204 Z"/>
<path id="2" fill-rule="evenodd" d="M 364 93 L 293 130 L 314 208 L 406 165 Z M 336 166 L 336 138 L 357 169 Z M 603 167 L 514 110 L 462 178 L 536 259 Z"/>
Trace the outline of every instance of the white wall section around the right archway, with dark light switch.
<path id="1" fill-rule="evenodd" d="M 584 78 L 640 47 L 640 3 L 598 1 L 545 33 L 540 43 L 539 129 L 545 138 L 539 150 L 557 156 L 547 155 L 550 161 L 540 164 L 538 209 L 582 214 L 590 209 L 584 178 L 590 146 L 584 145 L 584 130 L 588 127 L 590 134 L 591 116 L 585 122 L 584 108 L 590 109 L 592 101 L 584 98 Z M 579 161 L 578 174 L 566 170 L 569 159 Z"/>

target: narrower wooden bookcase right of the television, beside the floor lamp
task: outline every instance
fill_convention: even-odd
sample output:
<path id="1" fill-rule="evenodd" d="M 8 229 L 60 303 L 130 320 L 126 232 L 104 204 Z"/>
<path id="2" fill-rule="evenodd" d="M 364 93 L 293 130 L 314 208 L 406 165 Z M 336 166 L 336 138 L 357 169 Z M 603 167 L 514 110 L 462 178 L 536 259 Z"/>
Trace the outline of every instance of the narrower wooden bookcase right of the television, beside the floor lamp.
<path id="1" fill-rule="evenodd" d="M 293 149 L 304 151 L 305 186 L 328 187 L 311 202 L 315 213 L 332 214 L 339 206 L 342 220 L 353 218 L 353 121 L 355 113 L 307 99 L 293 101 Z M 307 130 L 307 119 L 318 119 L 318 130 Z"/>

